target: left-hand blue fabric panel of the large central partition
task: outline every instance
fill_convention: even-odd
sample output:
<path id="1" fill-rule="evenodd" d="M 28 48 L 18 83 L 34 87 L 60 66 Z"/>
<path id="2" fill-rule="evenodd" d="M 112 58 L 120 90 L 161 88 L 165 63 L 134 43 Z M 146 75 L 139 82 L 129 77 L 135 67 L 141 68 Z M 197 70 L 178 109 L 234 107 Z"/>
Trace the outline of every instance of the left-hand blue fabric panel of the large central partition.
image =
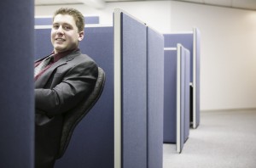
<path id="1" fill-rule="evenodd" d="M 122 168 L 147 167 L 147 28 L 128 14 L 122 24 Z"/>

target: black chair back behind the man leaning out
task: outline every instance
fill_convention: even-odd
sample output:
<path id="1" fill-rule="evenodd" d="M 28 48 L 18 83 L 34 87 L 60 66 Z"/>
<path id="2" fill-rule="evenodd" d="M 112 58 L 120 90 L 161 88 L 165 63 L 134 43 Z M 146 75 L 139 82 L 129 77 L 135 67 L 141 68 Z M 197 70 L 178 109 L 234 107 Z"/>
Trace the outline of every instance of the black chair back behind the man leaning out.
<path id="1" fill-rule="evenodd" d="M 64 116 L 63 129 L 61 135 L 61 143 L 57 159 L 60 159 L 65 153 L 70 139 L 73 135 L 73 130 L 79 124 L 79 121 L 90 111 L 90 109 L 96 104 L 97 100 L 102 95 L 102 90 L 105 84 L 105 72 L 102 68 L 98 67 L 98 78 L 96 80 L 96 86 L 90 93 L 88 98 L 85 98 L 72 112 L 67 113 Z"/>

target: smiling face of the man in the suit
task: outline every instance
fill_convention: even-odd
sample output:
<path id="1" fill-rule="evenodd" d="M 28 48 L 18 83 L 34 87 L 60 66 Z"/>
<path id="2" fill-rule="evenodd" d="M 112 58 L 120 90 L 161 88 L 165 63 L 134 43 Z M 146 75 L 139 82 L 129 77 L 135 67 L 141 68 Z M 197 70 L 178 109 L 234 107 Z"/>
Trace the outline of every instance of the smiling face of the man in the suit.
<path id="1" fill-rule="evenodd" d="M 55 53 L 78 48 L 79 41 L 83 40 L 84 31 L 79 32 L 73 20 L 68 14 L 57 14 L 51 29 L 51 43 Z"/>

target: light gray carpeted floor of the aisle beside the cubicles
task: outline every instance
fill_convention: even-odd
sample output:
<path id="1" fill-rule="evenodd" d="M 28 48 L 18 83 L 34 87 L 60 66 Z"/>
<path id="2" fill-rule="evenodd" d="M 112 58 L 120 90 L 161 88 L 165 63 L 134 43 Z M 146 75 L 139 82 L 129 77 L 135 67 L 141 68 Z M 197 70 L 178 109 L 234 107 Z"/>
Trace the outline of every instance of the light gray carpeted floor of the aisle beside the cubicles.
<path id="1" fill-rule="evenodd" d="M 182 154 L 164 144 L 163 168 L 256 168 L 256 109 L 201 112 Z"/>

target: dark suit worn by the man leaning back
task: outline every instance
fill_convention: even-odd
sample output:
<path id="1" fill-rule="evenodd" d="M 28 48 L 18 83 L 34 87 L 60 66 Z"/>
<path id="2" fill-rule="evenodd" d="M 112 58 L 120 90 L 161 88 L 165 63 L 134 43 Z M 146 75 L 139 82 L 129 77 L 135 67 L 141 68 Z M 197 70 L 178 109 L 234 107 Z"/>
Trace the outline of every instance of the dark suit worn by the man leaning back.
<path id="1" fill-rule="evenodd" d="M 96 63 L 75 51 L 55 62 L 35 81 L 36 168 L 51 167 L 60 145 L 63 113 L 90 94 L 97 76 Z"/>

